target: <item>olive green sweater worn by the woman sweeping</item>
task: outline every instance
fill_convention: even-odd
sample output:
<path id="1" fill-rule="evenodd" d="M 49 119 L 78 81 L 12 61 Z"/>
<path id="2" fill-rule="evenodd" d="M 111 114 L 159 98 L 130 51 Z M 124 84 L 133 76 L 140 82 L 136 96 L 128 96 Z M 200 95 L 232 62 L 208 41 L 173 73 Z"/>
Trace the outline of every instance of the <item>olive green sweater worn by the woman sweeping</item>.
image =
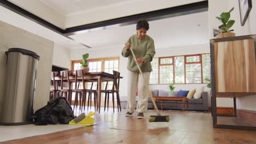
<path id="1" fill-rule="evenodd" d="M 153 60 L 153 57 L 155 55 L 155 45 L 154 40 L 150 38 L 148 35 L 144 39 L 139 39 L 137 35 L 132 35 L 126 42 L 131 44 L 131 49 L 135 53 L 135 57 L 139 58 L 142 57 L 144 59 L 144 62 L 141 65 L 141 70 L 143 72 L 149 72 L 152 71 L 151 63 Z M 139 73 L 139 70 L 137 68 L 136 62 L 133 59 L 131 50 L 127 51 L 125 47 L 122 51 L 123 57 L 128 57 L 128 65 L 127 69 L 130 71 L 135 71 Z"/>

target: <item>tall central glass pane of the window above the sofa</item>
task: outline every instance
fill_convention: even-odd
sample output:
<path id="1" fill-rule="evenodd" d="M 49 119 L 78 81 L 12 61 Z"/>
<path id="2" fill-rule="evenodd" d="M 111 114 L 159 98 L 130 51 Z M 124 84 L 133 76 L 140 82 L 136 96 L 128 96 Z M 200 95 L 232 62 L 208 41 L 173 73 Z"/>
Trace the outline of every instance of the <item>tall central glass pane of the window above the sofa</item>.
<path id="1" fill-rule="evenodd" d="M 184 56 L 174 57 L 175 83 L 185 83 Z"/>

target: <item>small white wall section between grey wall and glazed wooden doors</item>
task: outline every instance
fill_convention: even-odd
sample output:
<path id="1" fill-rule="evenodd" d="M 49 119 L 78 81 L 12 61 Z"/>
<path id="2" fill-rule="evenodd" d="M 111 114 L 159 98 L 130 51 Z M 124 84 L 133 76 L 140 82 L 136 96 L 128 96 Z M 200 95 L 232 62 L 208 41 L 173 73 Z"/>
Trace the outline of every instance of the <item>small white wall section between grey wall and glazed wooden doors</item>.
<path id="1" fill-rule="evenodd" d="M 53 65 L 62 68 L 71 68 L 70 61 L 71 50 L 68 47 L 63 47 L 54 43 Z"/>

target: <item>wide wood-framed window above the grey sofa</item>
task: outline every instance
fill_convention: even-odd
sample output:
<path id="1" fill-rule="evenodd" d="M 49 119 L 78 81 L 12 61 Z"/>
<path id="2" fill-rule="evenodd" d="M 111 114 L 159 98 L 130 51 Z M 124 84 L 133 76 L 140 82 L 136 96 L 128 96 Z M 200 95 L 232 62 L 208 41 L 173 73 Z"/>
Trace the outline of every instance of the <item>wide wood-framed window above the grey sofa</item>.
<path id="1" fill-rule="evenodd" d="M 153 58 L 149 84 L 207 83 L 210 53 Z"/>

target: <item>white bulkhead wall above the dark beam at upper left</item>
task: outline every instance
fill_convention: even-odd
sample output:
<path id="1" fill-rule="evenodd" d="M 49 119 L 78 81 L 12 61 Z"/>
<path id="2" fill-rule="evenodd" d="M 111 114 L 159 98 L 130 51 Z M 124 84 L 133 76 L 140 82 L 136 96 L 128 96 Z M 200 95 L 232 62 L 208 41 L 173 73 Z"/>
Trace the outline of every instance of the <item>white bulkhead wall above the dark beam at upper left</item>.
<path id="1" fill-rule="evenodd" d="M 65 15 L 60 14 L 58 11 L 48 7 L 40 1 L 34 0 L 9 0 L 11 3 L 19 5 L 19 7 L 29 11 L 30 13 L 52 23 L 53 25 L 65 29 Z"/>

